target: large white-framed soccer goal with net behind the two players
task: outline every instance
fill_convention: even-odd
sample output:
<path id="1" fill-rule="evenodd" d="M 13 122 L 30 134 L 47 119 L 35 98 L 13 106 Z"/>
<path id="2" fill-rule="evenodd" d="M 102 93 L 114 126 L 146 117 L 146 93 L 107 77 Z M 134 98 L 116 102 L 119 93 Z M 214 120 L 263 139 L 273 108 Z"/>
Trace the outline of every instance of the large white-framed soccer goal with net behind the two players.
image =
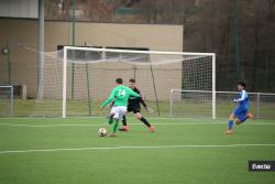
<path id="1" fill-rule="evenodd" d="M 44 58 L 35 116 L 102 116 L 99 106 L 117 77 L 123 78 L 125 85 L 135 78 L 155 116 L 169 115 L 173 88 L 211 90 L 215 104 L 213 53 L 64 46 L 44 53 Z"/>

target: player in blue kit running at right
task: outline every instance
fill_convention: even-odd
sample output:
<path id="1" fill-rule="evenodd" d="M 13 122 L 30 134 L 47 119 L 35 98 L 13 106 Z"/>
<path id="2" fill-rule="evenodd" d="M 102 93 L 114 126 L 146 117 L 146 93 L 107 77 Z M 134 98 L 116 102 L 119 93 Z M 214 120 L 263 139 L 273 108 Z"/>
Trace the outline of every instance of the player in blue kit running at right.
<path id="1" fill-rule="evenodd" d="M 238 90 L 240 91 L 239 98 L 234 99 L 234 102 L 238 102 L 238 106 L 233 110 L 233 112 L 229 116 L 229 123 L 228 123 L 228 130 L 224 132 L 226 134 L 232 134 L 233 133 L 233 125 L 241 125 L 246 119 L 251 118 L 253 119 L 253 115 L 249 112 L 250 108 L 250 100 L 248 93 L 245 91 L 245 83 L 239 82 L 238 83 Z"/>

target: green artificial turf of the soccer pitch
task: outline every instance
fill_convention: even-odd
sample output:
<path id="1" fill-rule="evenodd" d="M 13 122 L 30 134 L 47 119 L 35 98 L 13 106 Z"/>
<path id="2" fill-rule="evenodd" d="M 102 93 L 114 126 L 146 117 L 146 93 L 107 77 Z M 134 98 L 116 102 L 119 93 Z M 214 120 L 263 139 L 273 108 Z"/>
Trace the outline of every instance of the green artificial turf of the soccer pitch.
<path id="1" fill-rule="evenodd" d="M 275 183 L 275 172 L 248 171 L 249 160 L 275 160 L 274 120 L 224 136 L 227 120 L 148 119 L 156 132 L 129 118 L 118 138 L 98 137 L 110 131 L 103 118 L 0 119 L 0 183 Z"/>

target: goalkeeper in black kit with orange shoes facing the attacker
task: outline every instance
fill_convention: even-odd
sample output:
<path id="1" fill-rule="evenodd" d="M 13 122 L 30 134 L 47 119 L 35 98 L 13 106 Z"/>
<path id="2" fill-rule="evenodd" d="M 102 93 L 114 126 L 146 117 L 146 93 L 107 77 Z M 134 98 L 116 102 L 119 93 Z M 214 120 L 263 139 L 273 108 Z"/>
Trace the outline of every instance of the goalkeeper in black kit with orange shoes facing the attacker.
<path id="1" fill-rule="evenodd" d="M 140 95 L 140 97 L 132 97 L 130 96 L 129 100 L 128 100 L 128 107 L 127 107 L 127 111 L 128 112 L 133 112 L 135 115 L 135 118 L 139 119 L 140 121 L 142 121 L 147 128 L 150 132 L 154 132 L 155 131 L 155 127 L 152 126 L 142 115 L 141 115 L 141 104 L 142 106 L 146 109 L 146 110 L 151 110 L 147 105 L 145 104 L 145 101 L 143 100 L 143 98 L 141 97 L 141 91 L 136 88 L 135 86 L 135 79 L 131 78 L 129 80 L 129 87 L 135 91 L 136 94 Z M 112 116 L 110 117 L 112 119 Z M 122 117 L 122 123 L 123 127 L 120 128 L 120 131 L 128 131 L 129 130 L 129 126 L 127 125 L 127 116 L 124 115 Z"/>

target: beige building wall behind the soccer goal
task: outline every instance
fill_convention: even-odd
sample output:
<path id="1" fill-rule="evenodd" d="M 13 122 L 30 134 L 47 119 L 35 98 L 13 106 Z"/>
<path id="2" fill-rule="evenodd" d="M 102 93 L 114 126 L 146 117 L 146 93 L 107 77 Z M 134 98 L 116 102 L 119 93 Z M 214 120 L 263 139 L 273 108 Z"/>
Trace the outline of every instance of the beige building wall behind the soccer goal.
<path id="1" fill-rule="evenodd" d="M 0 19 L 0 46 L 7 41 L 9 42 L 10 62 L 12 64 L 11 80 L 14 84 L 25 84 L 28 86 L 28 96 L 35 98 L 37 88 L 37 53 L 35 52 L 35 50 L 37 50 L 37 21 Z M 77 22 L 75 43 L 76 45 L 84 45 L 85 42 L 92 46 L 147 47 L 157 51 L 183 51 L 183 26 Z M 45 21 L 46 52 L 56 52 L 57 45 L 70 44 L 70 22 Z M 3 69 L 6 68 L 6 61 L 7 55 L 1 54 L 0 84 L 7 82 L 7 71 Z M 51 59 L 45 58 L 45 62 Z M 51 62 L 54 61 L 52 59 Z M 51 66 L 50 63 L 48 65 Z M 47 66 L 46 63 L 45 66 Z M 134 75 L 132 66 L 110 67 L 117 67 L 124 72 L 108 72 L 107 69 L 95 71 L 95 68 L 92 69 L 92 66 L 89 67 L 91 94 L 105 98 L 110 93 L 109 88 L 113 86 L 114 77 L 121 76 L 128 79 Z M 177 72 L 168 73 L 166 69 L 167 67 L 173 67 Z M 157 95 L 161 99 L 168 99 L 170 88 L 180 88 L 182 72 L 178 69 L 180 67 L 180 65 L 161 66 L 160 68 L 162 69 L 155 72 Z M 48 84 L 45 82 L 46 86 L 53 86 L 55 83 L 55 85 L 61 85 L 61 80 L 57 82 L 53 77 L 53 69 L 55 68 L 47 69 L 50 71 L 47 75 L 52 76 L 50 77 L 52 80 L 48 80 Z M 140 71 L 138 69 L 135 71 L 135 74 L 143 95 L 147 98 L 153 98 L 153 83 L 148 69 L 150 67 Z M 70 69 L 68 69 L 68 75 L 70 75 Z M 85 86 L 85 83 L 82 82 L 84 76 L 85 68 L 79 66 L 79 71 L 76 72 L 75 78 L 76 87 Z M 70 77 L 68 77 L 68 86 L 69 85 Z M 58 88 L 61 90 L 61 86 L 56 86 L 56 89 Z M 48 91 L 51 90 L 48 89 Z M 87 95 L 86 93 L 87 90 L 81 87 L 79 87 L 79 89 L 76 88 L 76 96 L 78 97 L 85 97 Z"/>

